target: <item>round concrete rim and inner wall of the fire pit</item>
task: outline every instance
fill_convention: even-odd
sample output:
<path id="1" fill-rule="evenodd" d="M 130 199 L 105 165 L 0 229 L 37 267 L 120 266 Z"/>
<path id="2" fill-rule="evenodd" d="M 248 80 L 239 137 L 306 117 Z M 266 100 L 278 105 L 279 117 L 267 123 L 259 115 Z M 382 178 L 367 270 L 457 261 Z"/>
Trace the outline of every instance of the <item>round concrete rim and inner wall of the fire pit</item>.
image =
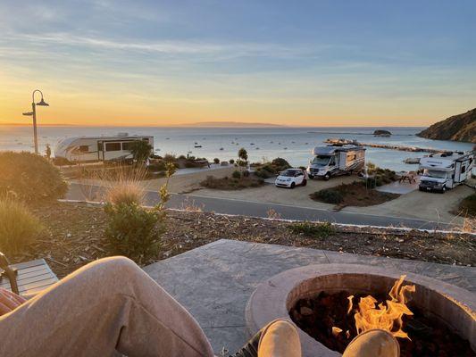
<path id="1" fill-rule="evenodd" d="M 301 299 L 322 292 L 335 294 L 386 294 L 402 275 L 401 271 L 357 264 L 322 264 L 286 270 L 260 284 L 246 306 L 250 334 L 275 319 L 293 322 L 289 311 Z M 405 284 L 416 287 L 412 303 L 425 316 L 438 320 L 476 351 L 476 295 L 434 278 L 406 273 Z M 303 357 L 339 356 L 298 328 Z"/>

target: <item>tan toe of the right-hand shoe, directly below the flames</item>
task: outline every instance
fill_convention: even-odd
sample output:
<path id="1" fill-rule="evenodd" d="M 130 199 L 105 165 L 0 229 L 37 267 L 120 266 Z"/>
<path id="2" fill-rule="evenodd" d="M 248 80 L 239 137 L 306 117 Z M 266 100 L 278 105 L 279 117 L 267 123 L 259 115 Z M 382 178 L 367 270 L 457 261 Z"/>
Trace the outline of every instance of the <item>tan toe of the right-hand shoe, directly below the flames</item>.
<path id="1" fill-rule="evenodd" d="M 397 339 L 383 329 L 370 329 L 356 336 L 342 357 L 398 357 L 400 345 Z"/>

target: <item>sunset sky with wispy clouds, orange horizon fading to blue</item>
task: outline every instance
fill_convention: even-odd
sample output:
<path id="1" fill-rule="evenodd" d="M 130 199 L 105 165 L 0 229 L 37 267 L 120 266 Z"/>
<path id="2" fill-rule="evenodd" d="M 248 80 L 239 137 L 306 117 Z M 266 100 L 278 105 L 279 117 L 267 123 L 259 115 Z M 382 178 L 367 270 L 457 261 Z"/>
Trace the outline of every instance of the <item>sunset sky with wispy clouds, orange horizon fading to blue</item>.
<path id="1" fill-rule="evenodd" d="M 474 19 L 474 0 L 1 0 L 0 123 L 39 88 L 43 124 L 426 126 L 476 107 Z"/>

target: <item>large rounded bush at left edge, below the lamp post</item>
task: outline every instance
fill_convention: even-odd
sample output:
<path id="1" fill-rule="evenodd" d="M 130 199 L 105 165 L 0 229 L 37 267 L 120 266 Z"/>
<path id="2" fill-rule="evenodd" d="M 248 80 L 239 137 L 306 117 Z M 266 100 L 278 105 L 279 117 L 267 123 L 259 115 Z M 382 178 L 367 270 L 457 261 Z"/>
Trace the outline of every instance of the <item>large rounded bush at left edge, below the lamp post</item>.
<path id="1" fill-rule="evenodd" d="M 0 168 L 0 196 L 28 202 L 61 198 L 68 190 L 60 171 L 36 154 L 0 153 Z"/>

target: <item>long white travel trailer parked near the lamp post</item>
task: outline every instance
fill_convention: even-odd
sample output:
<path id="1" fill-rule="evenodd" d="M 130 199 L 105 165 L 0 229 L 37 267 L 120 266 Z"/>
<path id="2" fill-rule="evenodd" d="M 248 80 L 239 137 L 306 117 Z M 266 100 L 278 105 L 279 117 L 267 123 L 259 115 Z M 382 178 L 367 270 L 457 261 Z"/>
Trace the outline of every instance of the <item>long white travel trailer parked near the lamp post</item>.
<path id="1" fill-rule="evenodd" d="M 113 137 L 67 137 L 54 148 L 56 158 L 68 162 L 106 162 L 128 160 L 130 143 L 144 140 L 154 147 L 154 137 L 129 136 L 119 133 Z"/>

